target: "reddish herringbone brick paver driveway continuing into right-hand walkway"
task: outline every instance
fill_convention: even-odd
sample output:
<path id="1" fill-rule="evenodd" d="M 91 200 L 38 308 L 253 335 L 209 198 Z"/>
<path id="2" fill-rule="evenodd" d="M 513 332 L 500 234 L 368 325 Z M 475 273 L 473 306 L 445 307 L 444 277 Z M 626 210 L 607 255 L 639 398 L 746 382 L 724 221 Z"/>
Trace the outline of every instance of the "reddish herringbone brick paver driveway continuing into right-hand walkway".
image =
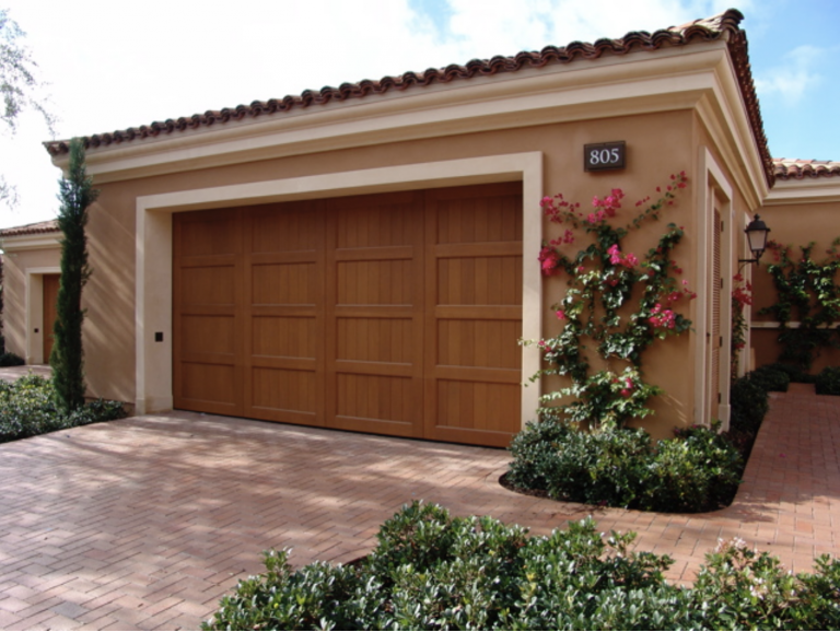
<path id="1" fill-rule="evenodd" d="M 226 419 L 147 416 L 0 445 L 0 628 L 195 629 L 261 551 L 349 561 L 411 499 L 546 532 L 593 514 L 689 580 L 719 537 L 796 570 L 837 553 L 840 398 L 773 396 L 732 507 L 603 510 L 497 483 L 504 450 Z"/>

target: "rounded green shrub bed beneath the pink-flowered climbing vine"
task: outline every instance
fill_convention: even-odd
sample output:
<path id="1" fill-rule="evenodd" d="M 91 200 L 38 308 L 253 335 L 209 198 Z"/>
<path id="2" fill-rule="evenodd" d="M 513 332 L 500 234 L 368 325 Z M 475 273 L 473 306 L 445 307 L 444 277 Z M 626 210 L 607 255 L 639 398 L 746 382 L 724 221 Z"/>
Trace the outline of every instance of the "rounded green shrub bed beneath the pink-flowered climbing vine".
<path id="1" fill-rule="evenodd" d="M 707 428 L 652 445 L 641 429 L 583 432 L 557 419 L 511 443 L 506 482 L 550 498 L 654 512 L 702 512 L 732 502 L 743 471 L 735 446 Z"/>

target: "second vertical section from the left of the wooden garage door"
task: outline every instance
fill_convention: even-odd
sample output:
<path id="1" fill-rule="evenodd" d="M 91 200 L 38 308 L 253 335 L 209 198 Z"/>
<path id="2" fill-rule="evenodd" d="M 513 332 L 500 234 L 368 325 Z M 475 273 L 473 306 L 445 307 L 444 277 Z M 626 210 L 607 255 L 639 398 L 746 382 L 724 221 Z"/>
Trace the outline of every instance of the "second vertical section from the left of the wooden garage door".
<path id="1" fill-rule="evenodd" d="M 324 425 L 323 207 L 256 207 L 244 220 L 248 417 Z"/>

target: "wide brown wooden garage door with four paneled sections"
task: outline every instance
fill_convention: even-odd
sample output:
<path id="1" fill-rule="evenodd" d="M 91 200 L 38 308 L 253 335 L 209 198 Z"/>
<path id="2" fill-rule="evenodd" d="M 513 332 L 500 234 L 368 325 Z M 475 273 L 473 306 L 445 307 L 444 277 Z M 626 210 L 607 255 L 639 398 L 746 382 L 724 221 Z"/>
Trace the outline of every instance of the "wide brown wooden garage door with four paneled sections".
<path id="1" fill-rule="evenodd" d="M 180 213 L 175 407 L 506 445 L 518 184 Z"/>

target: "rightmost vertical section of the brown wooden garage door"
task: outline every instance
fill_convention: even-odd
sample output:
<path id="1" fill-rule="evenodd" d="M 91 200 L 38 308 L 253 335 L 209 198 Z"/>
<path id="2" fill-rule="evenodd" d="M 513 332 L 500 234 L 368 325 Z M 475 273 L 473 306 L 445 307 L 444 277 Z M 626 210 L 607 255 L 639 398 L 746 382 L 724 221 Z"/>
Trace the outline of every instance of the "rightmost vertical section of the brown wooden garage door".
<path id="1" fill-rule="evenodd" d="M 506 446 L 520 430 L 518 184 L 428 192 L 425 436 Z"/>

